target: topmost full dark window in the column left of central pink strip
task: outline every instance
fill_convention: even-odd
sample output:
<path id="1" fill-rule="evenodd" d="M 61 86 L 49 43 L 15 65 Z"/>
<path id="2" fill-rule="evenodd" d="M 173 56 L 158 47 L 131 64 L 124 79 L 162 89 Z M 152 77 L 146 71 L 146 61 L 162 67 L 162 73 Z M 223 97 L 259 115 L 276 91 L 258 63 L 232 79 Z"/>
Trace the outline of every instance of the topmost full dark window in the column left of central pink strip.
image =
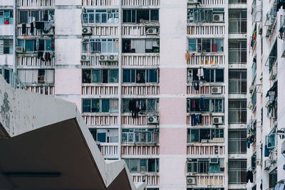
<path id="1" fill-rule="evenodd" d="M 158 9 L 123 10 L 123 23 L 155 23 L 158 21 Z"/>

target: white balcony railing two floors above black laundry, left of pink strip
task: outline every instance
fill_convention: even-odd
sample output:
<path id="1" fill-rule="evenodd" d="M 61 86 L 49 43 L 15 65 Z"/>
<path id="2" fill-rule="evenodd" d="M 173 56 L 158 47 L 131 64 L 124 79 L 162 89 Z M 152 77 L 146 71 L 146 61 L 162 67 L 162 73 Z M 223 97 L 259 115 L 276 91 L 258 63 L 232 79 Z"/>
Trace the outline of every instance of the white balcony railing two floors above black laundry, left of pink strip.
<path id="1" fill-rule="evenodd" d="M 122 65 L 128 66 L 156 66 L 160 65 L 160 53 L 123 53 Z"/>

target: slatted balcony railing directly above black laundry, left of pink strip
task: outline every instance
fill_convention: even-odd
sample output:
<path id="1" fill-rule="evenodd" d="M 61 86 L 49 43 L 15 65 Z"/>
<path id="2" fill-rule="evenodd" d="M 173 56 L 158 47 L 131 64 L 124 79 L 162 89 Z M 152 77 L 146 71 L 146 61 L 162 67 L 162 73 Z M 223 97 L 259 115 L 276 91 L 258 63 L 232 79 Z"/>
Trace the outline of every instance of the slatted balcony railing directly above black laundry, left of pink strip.
<path id="1" fill-rule="evenodd" d="M 159 95 L 160 86 L 158 84 L 153 85 L 123 85 L 122 95 Z"/>

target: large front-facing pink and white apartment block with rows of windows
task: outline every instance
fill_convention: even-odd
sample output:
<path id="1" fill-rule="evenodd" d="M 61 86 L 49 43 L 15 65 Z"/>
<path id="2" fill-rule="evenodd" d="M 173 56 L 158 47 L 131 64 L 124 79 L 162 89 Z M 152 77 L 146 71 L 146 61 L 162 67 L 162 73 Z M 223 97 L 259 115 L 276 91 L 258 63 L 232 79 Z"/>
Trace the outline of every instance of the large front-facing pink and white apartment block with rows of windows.
<path id="1" fill-rule="evenodd" d="M 151 190 L 247 189 L 247 1 L 15 3 L 3 70 L 75 102 L 105 159 Z"/>

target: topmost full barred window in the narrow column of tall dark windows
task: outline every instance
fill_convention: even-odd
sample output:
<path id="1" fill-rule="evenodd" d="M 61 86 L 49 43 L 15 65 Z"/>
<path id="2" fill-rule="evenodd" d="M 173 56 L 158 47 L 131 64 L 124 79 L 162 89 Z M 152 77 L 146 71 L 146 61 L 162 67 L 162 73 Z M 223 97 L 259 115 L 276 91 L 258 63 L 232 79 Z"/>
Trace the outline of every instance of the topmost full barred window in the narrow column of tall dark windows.
<path id="1" fill-rule="evenodd" d="M 229 33 L 247 33 L 247 9 L 229 9 Z"/>

